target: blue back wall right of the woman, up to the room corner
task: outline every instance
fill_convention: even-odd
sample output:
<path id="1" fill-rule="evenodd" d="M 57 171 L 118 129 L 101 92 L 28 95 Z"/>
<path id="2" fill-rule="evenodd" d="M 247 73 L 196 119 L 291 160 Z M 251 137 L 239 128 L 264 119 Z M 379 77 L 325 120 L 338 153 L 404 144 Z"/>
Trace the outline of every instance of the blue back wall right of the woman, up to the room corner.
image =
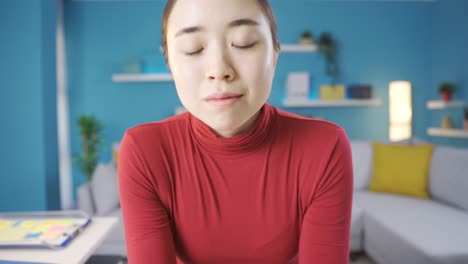
<path id="1" fill-rule="evenodd" d="M 274 6 L 283 42 L 296 42 L 304 28 L 318 36 L 330 31 L 340 44 L 342 83 L 369 83 L 379 107 L 288 109 L 300 114 L 323 116 L 343 126 L 351 139 L 388 138 L 388 84 L 409 80 L 415 94 L 426 87 L 428 3 L 325 2 L 301 1 L 301 5 L 283 2 Z M 312 93 L 329 80 L 324 76 L 324 61 L 318 54 L 282 54 L 271 101 L 280 104 L 284 84 L 290 71 L 307 69 L 312 79 Z M 424 116 L 424 101 L 413 100 L 415 116 Z M 416 135 L 422 134 L 425 120 L 415 119 Z"/>

